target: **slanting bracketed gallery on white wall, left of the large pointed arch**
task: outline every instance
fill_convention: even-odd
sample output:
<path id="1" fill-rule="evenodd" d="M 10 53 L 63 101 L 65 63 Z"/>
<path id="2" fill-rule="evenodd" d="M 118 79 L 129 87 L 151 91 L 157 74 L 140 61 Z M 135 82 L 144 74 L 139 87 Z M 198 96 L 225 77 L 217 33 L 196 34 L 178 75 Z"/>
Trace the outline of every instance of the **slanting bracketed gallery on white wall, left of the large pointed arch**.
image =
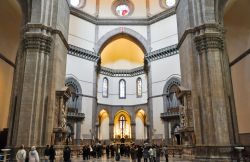
<path id="1" fill-rule="evenodd" d="M 96 55 L 96 53 L 92 51 L 88 51 L 86 49 L 74 46 L 74 45 L 69 45 L 69 55 L 80 57 L 86 60 L 94 61 L 97 62 L 99 59 L 99 56 Z"/>

